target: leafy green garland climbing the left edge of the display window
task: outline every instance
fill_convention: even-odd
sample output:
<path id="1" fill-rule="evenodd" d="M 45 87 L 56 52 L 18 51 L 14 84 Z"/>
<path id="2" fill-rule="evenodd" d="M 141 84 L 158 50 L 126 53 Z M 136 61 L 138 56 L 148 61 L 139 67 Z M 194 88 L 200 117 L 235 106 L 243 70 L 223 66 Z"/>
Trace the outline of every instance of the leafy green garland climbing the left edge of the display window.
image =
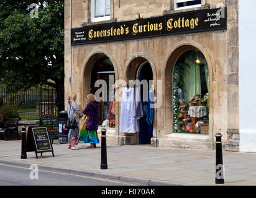
<path id="1" fill-rule="evenodd" d="M 178 100 L 178 88 L 183 88 L 184 64 L 179 62 L 173 69 L 173 129 L 178 132 L 178 118 L 180 114 L 180 101 Z"/>

